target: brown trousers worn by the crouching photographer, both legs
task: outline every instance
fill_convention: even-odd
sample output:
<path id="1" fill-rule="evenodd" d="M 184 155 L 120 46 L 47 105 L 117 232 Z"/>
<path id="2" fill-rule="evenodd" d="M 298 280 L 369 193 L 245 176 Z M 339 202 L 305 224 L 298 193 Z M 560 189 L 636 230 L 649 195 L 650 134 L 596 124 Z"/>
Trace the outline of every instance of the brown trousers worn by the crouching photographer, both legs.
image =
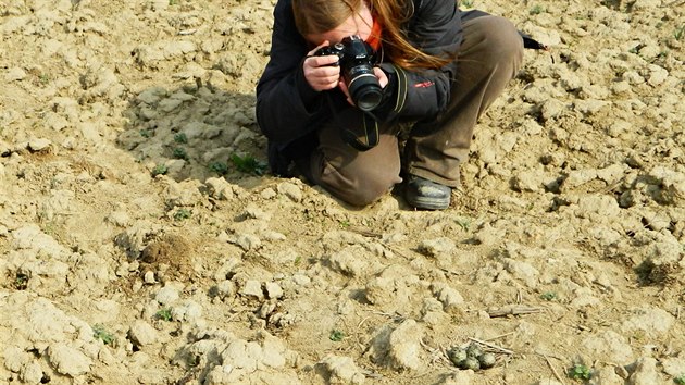
<path id="1" fill-rule="evenodd" d="M 308 164 L 298 165 L 306 169 L 302 172 L 337 198 L 360 207 L 402 182 L 400 167 L 458 187 L 459 164 L 469 157 L 476 121 L 515 76 L 523 61 L 523 41 L 513 24 L 503 17 L 470 20 L 463 24 L 463 34 L 457 59 L 458 78 L 447 110 L 437 122 L 411 128 L 402 161 L 399 127 L 383 127 L 378 145 L 361 152 L 342 140 L 338 126 L 332 122 L 319 131 L 320 145 Z M 338 119 L 346 122 L 344 113 Z"/>

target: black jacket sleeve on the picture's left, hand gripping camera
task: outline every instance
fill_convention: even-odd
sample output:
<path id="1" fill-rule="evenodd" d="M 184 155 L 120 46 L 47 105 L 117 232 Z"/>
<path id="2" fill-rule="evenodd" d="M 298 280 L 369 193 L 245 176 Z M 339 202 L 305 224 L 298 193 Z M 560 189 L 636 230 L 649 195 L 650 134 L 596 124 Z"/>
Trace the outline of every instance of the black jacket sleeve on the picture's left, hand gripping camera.
<path id="1" fill-rule="evenodd" d="M 257 85 L 257 122 L 270 140 L 288 142 L 307 134 L 311 119 L 323 110 L 323 98 L 309 86 L 302 71 L 307 52 L 290 1 L 278 0 L 270 60 Z"/>

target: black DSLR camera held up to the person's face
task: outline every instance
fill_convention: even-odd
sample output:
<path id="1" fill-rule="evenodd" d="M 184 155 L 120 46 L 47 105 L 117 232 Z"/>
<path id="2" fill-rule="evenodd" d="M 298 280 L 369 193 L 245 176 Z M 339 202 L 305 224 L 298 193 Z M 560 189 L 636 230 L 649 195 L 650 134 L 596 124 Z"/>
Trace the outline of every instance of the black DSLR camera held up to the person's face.
<path id="1" fill-rule="evenodd" d="M 314 55 L 337 55 L 332 64 L 340 66 L 342 80 L 349 90 L 352 102 L 362 111 L 373 111 L 383 99 L 383 89 L 373 73 L 375 52 L 358 35 L 348 36 L 333 46 L 322 47 Z"/>

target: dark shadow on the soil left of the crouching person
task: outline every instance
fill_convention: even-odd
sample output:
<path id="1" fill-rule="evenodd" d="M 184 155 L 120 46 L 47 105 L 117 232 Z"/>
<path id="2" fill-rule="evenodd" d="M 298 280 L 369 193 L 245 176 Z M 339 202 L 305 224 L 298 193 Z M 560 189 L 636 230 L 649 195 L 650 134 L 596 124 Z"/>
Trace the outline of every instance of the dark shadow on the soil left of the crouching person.
<path id="1" fill-rule="evenodd" d="M 266 139 L 254 119 L 254 95 L 201 82 L 177 89 L 151 87 L 132 98 L 117 146 L 150 173 L 176 181 L 223 176 L 252 187 L 267 173 Z"/>

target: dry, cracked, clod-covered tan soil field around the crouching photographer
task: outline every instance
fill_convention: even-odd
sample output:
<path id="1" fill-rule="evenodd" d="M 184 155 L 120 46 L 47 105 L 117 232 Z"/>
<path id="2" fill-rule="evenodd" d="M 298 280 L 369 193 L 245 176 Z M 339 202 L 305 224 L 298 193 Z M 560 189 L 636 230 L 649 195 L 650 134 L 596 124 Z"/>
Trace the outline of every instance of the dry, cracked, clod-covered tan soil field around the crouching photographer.
<path id="1" fill-rule="evenodd" d="M 0 1 L 0 383 L 684 384 L 685 3 L 462 5 L 551 50 L 421 212 L 262 173 L 272 0 Z"/>

